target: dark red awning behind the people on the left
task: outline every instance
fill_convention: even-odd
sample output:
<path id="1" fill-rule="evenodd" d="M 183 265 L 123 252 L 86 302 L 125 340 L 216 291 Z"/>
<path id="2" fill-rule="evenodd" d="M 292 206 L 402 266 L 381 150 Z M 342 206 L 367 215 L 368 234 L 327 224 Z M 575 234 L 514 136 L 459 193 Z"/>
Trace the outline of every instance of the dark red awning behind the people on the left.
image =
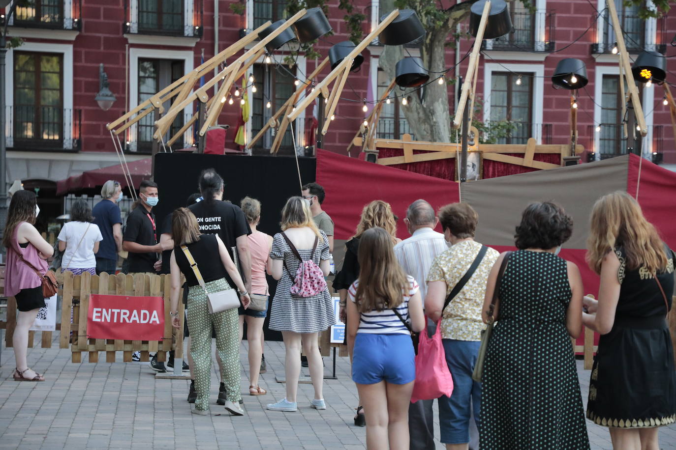
<path id="1" fill-rule="evenodd" d="M 128 162 L 127 166 L 131 173 L 132 184 L 134 188 L 139 188 L 139 184 L 144 179 L 150 177 L 151 158 L 139 159 L 138 161 Z M 122 188 L 126 188 L 128 183 L 124 177 L 122 166 L 119 164 L 101 167 L 82 172 L 80 175 L 73 175 L 56 183 L 56 194 L 67 194 L 68 192 L 78 192 L 82 189 L 98 188 L 103 186 L 105 181 L 114 179 L 119 181 Z"/>

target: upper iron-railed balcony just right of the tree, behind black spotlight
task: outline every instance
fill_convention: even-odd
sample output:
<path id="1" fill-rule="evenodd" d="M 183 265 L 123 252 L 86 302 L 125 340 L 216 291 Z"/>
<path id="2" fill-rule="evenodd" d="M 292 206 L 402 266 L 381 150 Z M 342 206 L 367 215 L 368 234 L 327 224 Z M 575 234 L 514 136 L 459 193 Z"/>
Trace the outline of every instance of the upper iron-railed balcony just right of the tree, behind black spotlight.
<path id="1" fill-rule="evenodd" d="M 550 52 L 556 45 L 554 11 L 512 14 L 512 32 L 496 39 L 484 40 L 483 50 Z"/>

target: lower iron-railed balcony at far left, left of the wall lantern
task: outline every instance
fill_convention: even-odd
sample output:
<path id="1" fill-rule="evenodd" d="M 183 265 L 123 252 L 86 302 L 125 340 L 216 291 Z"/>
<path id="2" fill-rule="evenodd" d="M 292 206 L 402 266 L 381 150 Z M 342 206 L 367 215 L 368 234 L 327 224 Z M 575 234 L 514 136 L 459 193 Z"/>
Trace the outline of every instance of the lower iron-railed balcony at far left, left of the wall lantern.
<path id="1" fill-rule="evenodd" d="M 6 145 L 9 150 L 80 150 L 80 109 L 16 105 L 5 109 L 5 119 Z"/>

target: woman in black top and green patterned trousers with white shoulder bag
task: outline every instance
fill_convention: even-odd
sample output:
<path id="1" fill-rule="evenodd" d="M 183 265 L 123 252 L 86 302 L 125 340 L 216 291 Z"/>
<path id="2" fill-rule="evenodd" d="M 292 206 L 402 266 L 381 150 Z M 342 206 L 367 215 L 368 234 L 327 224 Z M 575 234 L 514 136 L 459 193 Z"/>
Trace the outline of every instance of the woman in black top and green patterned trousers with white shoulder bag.
<path id="1" fill-rule="evenodd" d="M 170 314 L 172 326 L 180 329 L 178 317 L 178 293 L 180 275 L 191 288 L 188 292 L 188 326 L 190 328 L 190 353 L 193 357 L 195 374 L 194 414 L 209 414 L 209 387 L 211 384 L 211 339 L 212 327 L 216 331 L 216 351 L 223 362 L 223 382 L 228 399 L 225 409 L 234 416 L 243 416 L 239 405 L 241 399 L 239 387 L 239 336 L 237 335 L 237 308 L 210 314 L 208 293 L 233 289 L 228 285 L 225 274 L 228 273 L 237 287 L 242 306 L 249 306 L 250 298 L 239 271 L 230 257 L 225 244 L 217 234 L 199 232 L 197 219 L 188 208 L 174 210 L 172 216 L 172 238 L 174 251 L 170 258 L 171 298 Z M 193 269 L 191 261 L 196 264 Z M 202 280 L 199 280 L 197 274 Z M 200 282 L 201 281 L 201 282 Z M 203 283 L 203 289 L 197 287 Z"/>

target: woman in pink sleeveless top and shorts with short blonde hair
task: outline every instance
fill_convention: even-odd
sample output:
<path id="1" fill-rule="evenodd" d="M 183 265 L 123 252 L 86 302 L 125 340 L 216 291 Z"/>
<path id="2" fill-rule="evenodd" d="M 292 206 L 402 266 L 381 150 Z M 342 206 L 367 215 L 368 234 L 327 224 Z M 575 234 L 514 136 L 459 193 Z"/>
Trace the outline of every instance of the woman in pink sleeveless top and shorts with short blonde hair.
<path id="1" fill-rule="evenodd" d="M 246 320 L 247 342 L 249 343 L 249 395 L 265 395 L 267 391 L 258 385 L 258 376 L 264 367 L 262 365 L 263 322 L 268 314 L 268 298 L 270 297 L 265 271 L 272 248 L 272 236 L 256 229 L 260 223 L 260 202 L 256 198 L 245 197 L 240 202 L 240 206 L 251 227 L 251 234 L 247 236 L 251 256 L 251 299 L 264 302 L 264 309 L 239 308 L 239 339 L 242 339 Z"/>

